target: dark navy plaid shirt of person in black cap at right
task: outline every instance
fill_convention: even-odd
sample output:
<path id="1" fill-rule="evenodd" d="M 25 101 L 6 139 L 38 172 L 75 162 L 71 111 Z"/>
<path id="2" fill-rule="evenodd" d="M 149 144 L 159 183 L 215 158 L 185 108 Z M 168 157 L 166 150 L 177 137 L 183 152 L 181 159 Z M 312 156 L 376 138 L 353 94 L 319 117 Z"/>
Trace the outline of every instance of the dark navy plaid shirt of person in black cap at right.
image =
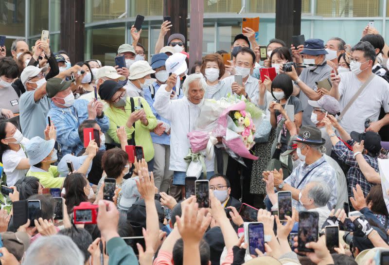
<path id="1" fill-rule="evenodd" d="M 351 146 L 353 146 L 355 143 L 354 140 L 349 140 L 346 142 Z M 355 188 L 356 184 L 359 184 L 362 188 L 363 194 L 366 197 L 370 192 L 370 188 L 373 183 L 370 183 L 363 175 L 362 171 L 359 169 L 358 162 L 353 157 L 354 152 L 351 151 L 342 141 L 338 141 L 336 145 L 332 148 L 332 150 L 334 150 L 340 160 L 351 166 L 351 168 L 347 172 L 349 195 L 353 194 L 353 188 Z M 374 168 L 376 172 L 379 172 L 377 158 L 373 158 L 368 155 L 363 155 L 363 158 L 372 168 Z"/>

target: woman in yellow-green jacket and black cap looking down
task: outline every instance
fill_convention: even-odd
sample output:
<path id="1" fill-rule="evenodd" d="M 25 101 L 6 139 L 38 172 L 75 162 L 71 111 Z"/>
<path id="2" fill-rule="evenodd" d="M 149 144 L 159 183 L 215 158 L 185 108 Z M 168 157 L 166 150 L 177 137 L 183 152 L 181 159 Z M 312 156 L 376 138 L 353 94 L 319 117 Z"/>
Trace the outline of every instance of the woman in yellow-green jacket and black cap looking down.
<path id="1" fill-rule="evenodd" d="M 144 159 L 147 161 L 149 171 L 154 168 L 154 147 L 150 130 L 157 126 L 157 119 L 151 111 L 147 101 L 142 97 L 127 97 L 126 91 L 117 82 L 106 80 L 99 88 L 101 99 L 108 107 L 105 115 L 109 119 L 107 134 L 113 141 L 120 144 L 116 130 L 124 126 L 127 139 L 132 140 L 135 135 L 135 145 L 143 147 Z"/>

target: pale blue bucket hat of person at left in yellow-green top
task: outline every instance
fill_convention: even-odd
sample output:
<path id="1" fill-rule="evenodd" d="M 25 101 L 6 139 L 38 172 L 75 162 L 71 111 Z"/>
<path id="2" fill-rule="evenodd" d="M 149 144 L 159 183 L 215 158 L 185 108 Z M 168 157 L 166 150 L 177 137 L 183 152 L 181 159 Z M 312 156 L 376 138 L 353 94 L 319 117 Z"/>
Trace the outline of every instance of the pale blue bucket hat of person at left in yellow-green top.
<path id="1" fill-rule="evenodd" d="M 44 140 L 35 136 L 25 145 L 30 164 L 35 165 L 45 159 L 53 150 L 55 140 Z"/>

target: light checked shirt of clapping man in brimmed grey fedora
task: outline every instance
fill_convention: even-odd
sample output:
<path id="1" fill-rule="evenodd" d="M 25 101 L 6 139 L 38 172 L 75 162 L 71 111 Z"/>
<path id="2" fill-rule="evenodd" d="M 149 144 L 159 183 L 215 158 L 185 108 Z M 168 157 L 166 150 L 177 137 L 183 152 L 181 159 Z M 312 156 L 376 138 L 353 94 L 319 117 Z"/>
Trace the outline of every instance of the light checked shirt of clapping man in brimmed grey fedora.
<path id="1" fill-rule="evenodd" d="M 301 182 L 307 173 L 309 173 L 308 176 Z M 336 172 L 331 165 L 326 162 L 324 157 L 321 157 L 310 165 L 307 165 L 305 162 L 301 163 L 297 168 L 293 169 L 292 174 L 285 179 L 285 183 L 288 183 L 290 186 L 299 189 L 300 191 L 312 181 L 324 181 L 331 187 L 332 194 L 327 203 L 327 207 L 332 210 L 333 206 L 336 205 L 337 196 Z M 301 184 L 298 187 L 300 182 Z M 304 211 L 304 206 L 295 199 L 292 200 L 292 206 L 299 212 Z"/>

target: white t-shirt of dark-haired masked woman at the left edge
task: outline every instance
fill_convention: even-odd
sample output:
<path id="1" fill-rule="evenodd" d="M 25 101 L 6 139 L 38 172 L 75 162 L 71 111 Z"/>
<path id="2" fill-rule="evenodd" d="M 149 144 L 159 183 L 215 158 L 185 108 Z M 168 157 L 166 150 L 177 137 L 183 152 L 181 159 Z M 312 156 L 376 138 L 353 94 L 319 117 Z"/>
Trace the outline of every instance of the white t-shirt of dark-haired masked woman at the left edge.
<path id="1" fill-rule="evenodd" d="M 24 138 L 22 141 L 22 144 L 25 144 L 28 142 L 27 138 Z M 15 183 L 23 178 L 26 177 L 26 173 L 28 169 L 16 169 L 18 164 L 20 163 L 21 159 L 27 158 L 26 154 L 24 153 L 23 148 L 20 148 L 18 152 L 15 152 L 13 150 L 6 150 L 3 153 L 2 161 L 3 161 L 3 169 L 5 174 L 7 175 L 7 186 L 15 186 Z"/>

